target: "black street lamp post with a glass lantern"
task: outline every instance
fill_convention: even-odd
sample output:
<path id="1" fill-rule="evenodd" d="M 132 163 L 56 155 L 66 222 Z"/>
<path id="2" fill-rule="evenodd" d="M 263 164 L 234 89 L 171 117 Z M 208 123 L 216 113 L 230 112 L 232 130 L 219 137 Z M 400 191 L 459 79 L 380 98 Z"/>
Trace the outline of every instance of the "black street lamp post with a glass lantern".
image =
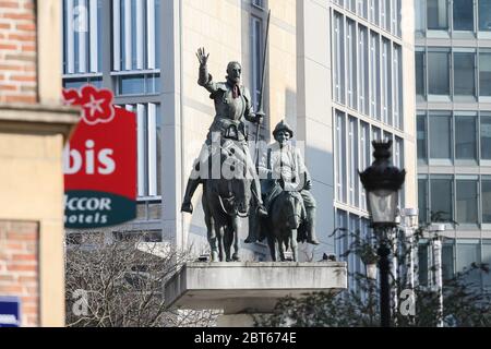
<path id="1" fill-rule="evenodd" d="M 379 236 L 380 268 L 380 313 L 381 326 L 391 326 L 391 290 L 388 287 L 387 231 L 396 226 L 399 190 L 406 177 L 405 170 L 391 165 L 391 146 L 388 142 L 372 142 L 374 161 L 363 172 L 360 180 L 367 192 L 367 207 L 372 218 L 372 227 Z"/>

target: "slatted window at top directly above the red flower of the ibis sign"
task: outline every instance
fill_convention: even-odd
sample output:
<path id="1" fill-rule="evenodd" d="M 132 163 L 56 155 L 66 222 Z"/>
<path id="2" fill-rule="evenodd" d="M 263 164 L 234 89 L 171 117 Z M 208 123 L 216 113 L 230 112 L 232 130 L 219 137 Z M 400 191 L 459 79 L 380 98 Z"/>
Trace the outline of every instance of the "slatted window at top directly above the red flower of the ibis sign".
<path id="1" fill-rule="evenodd" d="M 63 0 L 63 72 L 101 71 L 101 0 Z"/>

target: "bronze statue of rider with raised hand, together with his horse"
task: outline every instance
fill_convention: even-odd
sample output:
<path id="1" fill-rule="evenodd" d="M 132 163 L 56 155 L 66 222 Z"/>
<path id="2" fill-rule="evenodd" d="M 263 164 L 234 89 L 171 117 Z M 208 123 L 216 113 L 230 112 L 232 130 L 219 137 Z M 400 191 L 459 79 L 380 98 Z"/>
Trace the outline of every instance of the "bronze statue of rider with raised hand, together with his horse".
<path id="1" fill-rule="evenodd" d="M 196 188 L 203 183 L 203 207 L 208 229 L 208 241 L 212 246 L 212 257 L 216 257 L 217 234 L 219 243 L 220 234 L 225 232 L 225 253 L 227 254 L 227 246 L 229 249 L 232 243 L 229 237 L 231 234 L 236 240 L 236 253 L 231 258 L 237 260 L 238 216 L 249 214 L 251 196 L 253 207 L 255 207 L 252 214 L 267 216 L 261 197 L 261 184 L 247 146 L 244 131 L 244 119 L 261 123 L 264 116 L 255 115 L 253 111 L 250 93 L 241 85 L 240 63 L 228 63 L 226 81 L 214 82 L 207 70 L 209 53 L 207 55 L 204 48 L 200 48 L 196 57 L 200 61 L 197 84 L 209 92 L 209 98 L 215 104 L 216 115 L 200 156 L 193 165 L 181 210 L 193 212 L 191 198 Z M 221 170 L 227 168 L 231 172 L 240 173 L 240 169 L 242 169 L 243 176 L 230 178 L 220 172 L 218 178 L 212 178 L 209 169 L 214 161 L 218 164 Z M 224 214 L 230 219 L 225 219 Z M 221 250 L 220 254 L 223 254 Z M 227 256 L 227 260 L 230 258 Z"/>

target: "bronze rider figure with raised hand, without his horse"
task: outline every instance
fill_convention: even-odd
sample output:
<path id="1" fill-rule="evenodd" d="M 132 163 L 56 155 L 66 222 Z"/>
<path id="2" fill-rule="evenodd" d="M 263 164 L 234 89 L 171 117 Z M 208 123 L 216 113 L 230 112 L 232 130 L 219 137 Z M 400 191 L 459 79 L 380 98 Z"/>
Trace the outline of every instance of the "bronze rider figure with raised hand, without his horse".
<path id="1" fill-rule="evenodd" d="M 200 48 L 196 53 L 200 61 L 200 72 L 197 84 L 209 92 L 209 98 L 215 104 L 215 119 L 209 127 L 206 136 L 205 146 L 203 146 L 201 154 L 194 163 L 190 179 L 184 193 L 181 210 L 187 213 L 193 212 L 191 198 L 194 191 L 202 183 L 200 178 L 200 164 L 206 161 L 209 156 L 209 146 L 212 142 L 216 141 L 217 135 L 221 139 L 229 139 L 238 141 L 241 144 L 242 151 L 250 166 L 248 172 L 252 178 L 252 197 L 255 201 L 254 205 L 258 207 L 260 216 L 267 216 L 261 198 L 261 184 L 255 172 L 254 163 L 252 161 L 249 148 L 247 146 L 247 135 L 244 130 L 244 119 L 254 123 L 261 123 L 263 115 L 255 115 L 252 107 L 252 100 L 248 88 L 241 85 L 242 69 L 239 62 L 230 62 L 227 65 L 227 76 L 225 82 L 214 82 L 212 75 L 208 73 L 207 60 L 209 53 L 205 52 L 204 48 Z"/>

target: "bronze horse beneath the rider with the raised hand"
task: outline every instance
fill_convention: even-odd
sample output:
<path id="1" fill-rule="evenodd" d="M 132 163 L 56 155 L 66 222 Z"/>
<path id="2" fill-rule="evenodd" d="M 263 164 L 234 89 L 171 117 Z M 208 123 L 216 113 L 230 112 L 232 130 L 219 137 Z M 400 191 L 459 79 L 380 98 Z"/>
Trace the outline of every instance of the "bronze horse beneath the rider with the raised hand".
<path id="1" fill-rule="evenodd" d="M 202 204 L 212 262 L 239 261 L 240 218 L 248 217 L 251 207 L 251 180 L 244 176 L 244 156 L 233 142 L 226 140 L 218 152 L 209 156 L 208 164 L 204 164 L 211 168 L 213 161 L 218 161 L 221 170 L 228 169 L 235 174 L 224 178 L 221 173 L 219 179 L 203 180 Z"/>

